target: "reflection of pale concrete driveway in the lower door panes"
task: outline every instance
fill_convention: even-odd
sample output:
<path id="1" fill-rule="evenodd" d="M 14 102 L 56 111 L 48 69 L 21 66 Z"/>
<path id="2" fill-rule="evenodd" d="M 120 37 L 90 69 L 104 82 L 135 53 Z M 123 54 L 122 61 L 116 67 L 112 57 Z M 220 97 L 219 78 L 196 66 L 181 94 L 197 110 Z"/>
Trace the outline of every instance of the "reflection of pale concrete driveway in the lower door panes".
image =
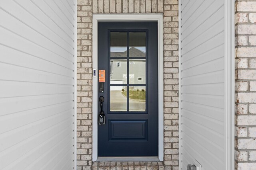
<path id="1" fill-rule="evenodd" d="M 110 91 L 110 110 L 111 111 L 126 111 L 126 97 L 122 91 Z M 145 111 L 145 101 L 140 102 L 136 100 L 129 100 L 129 111 Z"/>

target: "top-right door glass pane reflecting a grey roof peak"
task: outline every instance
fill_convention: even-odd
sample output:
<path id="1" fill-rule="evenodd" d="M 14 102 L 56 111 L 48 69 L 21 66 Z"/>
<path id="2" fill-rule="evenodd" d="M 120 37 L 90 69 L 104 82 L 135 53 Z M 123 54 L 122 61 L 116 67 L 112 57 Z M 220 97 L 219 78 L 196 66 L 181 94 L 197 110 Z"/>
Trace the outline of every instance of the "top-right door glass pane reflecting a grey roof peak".
<path id="1" fill-rule="evenodd" d="M 129 57 L 146 57 L 146 32 L 129 33 Z"/>

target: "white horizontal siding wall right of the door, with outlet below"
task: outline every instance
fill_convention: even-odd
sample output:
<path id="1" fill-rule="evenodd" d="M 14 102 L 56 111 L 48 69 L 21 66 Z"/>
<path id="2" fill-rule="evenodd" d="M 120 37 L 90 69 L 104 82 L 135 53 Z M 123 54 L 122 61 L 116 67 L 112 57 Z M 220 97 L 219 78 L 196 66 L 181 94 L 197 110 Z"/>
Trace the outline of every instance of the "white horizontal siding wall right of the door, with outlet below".
<path id="1" fill-rule="evenodd" d="M 225 6 L 223 0 L 181 0 L 182 170 L 225 165 Z"/>

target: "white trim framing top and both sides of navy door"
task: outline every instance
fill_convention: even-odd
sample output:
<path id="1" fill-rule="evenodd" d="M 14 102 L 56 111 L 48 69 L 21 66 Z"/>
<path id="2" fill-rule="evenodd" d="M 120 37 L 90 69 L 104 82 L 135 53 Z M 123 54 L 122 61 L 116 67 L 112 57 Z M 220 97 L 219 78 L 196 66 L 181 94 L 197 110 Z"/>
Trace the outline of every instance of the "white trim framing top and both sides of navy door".
<path id="1" fill-rule="evenodd" d="M 163 73 L 163 15 L 162 14 L 93 14 L 92 65 L 98 70 L 99 21 L 157 21 L 158 22 L 158 158 L 164 160 L 164 73 Z M 98 72 L 93 77 L 92 92 L 92 161 L 98 159 Z"/>

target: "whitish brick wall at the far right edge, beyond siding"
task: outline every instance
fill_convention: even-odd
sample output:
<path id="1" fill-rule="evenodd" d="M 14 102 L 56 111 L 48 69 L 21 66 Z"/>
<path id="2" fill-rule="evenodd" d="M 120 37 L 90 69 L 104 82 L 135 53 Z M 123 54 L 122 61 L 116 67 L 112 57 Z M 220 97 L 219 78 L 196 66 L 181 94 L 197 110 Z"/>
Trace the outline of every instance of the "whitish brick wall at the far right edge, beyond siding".
<path id="1" fill-rule="evenodd" d="M 235 167 L 256 168 L 256 0 L 236 1 Z"/>

